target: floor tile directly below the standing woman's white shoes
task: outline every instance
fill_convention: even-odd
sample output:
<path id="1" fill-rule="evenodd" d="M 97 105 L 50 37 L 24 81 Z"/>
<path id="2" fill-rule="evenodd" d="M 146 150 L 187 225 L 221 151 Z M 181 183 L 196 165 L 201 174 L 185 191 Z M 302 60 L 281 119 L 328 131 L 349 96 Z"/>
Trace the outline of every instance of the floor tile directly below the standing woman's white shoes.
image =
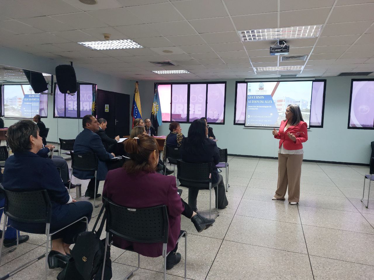
<path id="1" fill-rule="evenodd" d="M 297 205 L 242 199 L 236 215 L 300 224 Z"/>

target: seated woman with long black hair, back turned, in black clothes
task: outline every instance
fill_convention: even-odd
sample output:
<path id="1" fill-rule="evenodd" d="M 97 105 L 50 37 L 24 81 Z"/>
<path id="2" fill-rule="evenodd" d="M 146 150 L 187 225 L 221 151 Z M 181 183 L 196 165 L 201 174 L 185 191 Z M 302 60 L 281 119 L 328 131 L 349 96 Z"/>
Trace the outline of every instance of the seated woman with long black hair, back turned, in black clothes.
<path id="1" fill-rule="evenodd" d="M 188 129 L 188 137 L 180 146 L 182 160 L 185 162 L 212 163 L 212 187 L 214 187 L 218 208 L 224 209 L 229 204 L 226 198 L 225 185 L 222 175 L 218 174 L 216 165 L 220 162 L 220 152 L 215 141 L 206 138 L 208 127 L 202 119 L 196 119 Z M 197 195 L 199 190 L 188 189 L 188 205 L 197 210 Z"/>

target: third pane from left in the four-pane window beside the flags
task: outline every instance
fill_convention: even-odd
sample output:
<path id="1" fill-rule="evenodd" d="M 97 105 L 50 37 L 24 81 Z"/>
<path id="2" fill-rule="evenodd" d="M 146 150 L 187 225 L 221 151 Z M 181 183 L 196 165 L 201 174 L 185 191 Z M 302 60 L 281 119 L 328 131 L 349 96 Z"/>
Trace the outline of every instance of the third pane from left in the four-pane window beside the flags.
<path id="1" fill-rule="evenodd" d="M 190 122 L 205 116 L 206 84 L 190 85 Z"/>

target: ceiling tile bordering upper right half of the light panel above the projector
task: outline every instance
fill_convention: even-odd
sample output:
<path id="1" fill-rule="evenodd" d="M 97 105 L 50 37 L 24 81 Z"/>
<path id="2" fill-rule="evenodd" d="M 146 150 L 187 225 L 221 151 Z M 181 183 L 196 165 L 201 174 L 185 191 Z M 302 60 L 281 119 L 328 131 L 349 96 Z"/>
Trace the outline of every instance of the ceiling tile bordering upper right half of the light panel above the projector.
<path id="1" fill-rule="evenodd" d="M 330 10 L 329 7 L 326 7 L 281 12 L 279 27 L 324 24 Z"/>

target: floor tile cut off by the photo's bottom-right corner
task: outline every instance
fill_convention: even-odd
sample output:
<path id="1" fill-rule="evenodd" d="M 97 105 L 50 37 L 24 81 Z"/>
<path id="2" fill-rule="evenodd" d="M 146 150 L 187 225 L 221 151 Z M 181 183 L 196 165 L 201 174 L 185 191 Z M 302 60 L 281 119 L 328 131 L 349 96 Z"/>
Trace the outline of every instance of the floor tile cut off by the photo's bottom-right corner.
<path id="1" fill-rule="evenodd" d="M 354 262 L 310 256 L 313 275 L 319 280 L 371 280 L 374 267 Z"/>

